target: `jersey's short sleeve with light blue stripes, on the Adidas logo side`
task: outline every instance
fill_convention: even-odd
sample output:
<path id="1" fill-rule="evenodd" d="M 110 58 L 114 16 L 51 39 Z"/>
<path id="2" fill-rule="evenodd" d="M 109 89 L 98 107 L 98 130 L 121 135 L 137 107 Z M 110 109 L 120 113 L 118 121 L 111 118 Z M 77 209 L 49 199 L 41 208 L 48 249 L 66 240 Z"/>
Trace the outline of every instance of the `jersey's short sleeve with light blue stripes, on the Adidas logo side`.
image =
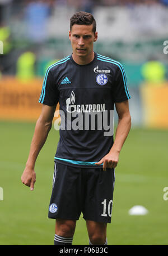
<path id="1" fill-rule="evenodd" d="M 53 77 L 52 71 L 48 69 L 44 77 L 39 102 L 48 106 L 54 106 L 58 103 L 58 97 L 59 91 L 57 89 L 57 83 Z"/>

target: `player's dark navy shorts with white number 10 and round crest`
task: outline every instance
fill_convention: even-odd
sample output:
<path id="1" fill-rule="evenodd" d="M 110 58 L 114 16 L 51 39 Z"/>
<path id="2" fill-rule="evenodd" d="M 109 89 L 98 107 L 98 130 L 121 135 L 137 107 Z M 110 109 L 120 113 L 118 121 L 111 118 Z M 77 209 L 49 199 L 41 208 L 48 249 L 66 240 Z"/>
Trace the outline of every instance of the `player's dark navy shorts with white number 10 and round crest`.
<path id="1" fill-rule="evenodd" d="M 115 170 L 71 167 L 55 162 L 48 217 L 111 222 Z"/>

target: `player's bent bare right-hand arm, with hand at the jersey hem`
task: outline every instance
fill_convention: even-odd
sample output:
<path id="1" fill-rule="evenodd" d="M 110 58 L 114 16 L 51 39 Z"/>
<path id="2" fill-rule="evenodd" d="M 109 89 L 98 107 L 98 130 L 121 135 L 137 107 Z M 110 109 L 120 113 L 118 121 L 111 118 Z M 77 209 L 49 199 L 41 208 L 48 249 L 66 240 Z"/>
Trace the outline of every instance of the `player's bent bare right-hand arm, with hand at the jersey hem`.
<path id="1" fill-rule="evenodd" d="M 118 125 L 116 127 L 114 144 L 109 153 L 96 163 L 97 165 L 103 163 L 103 170 L 106 170 L 106 168 L 115 168 L 117 166 L 120 151 L 122 150 L 123 144 L 131 127 L 128 100 L 123 102 L 115 102 L 115 107 L 118 113 Z"/>

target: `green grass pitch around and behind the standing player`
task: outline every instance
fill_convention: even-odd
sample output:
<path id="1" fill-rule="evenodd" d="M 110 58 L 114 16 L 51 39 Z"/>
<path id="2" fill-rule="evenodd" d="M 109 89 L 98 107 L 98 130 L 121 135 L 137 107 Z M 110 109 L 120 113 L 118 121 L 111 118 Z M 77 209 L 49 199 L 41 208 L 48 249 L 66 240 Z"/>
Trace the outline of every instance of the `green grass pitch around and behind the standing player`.
<path id="1" fill-rule="evenodd" d="M 48 219 L 54 154 L 59 133 L 49 133 L 36 161 L 35 190 L 21 182 L 35 124 L 0 122 L 0 244 L 53 244 L 54 219 Z M 108 244 L 168 244 L 167 131 L 132 129 L 115 169 L 115 189 Z M 134 205 L 149 213 L 130 216 Z M 87 245 L 85 220 L 77 222 L 74 245 Z"/>

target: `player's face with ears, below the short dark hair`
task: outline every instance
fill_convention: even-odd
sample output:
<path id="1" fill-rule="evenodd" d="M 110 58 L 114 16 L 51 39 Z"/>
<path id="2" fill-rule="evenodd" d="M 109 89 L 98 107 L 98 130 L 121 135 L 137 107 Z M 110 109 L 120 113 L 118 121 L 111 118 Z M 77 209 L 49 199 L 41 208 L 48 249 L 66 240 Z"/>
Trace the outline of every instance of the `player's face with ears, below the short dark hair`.
<path id="1" fill-rule="evenodd" d="M 72 26 L 69 31 L 73 54 L 78 57 L 88 57 L 94 50 L 94 42 L 97 41 L 97 32 L 94 34 L 93 25 Z"/>

